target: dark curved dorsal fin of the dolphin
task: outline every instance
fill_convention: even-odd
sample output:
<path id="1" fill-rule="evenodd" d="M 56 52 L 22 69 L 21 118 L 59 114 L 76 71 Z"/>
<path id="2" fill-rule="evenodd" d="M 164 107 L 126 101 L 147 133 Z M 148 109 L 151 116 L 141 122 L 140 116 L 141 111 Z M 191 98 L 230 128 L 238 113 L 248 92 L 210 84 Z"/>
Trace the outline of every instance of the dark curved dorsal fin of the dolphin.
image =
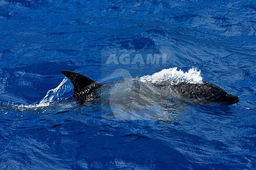
<path id="1" fill-rule="evenodd" d="M 88 88 L 101 86 L 100 83 L 74 71 L 63 70 L 61 71 L 74 85 L 75 93 L 81 93 Z"/>

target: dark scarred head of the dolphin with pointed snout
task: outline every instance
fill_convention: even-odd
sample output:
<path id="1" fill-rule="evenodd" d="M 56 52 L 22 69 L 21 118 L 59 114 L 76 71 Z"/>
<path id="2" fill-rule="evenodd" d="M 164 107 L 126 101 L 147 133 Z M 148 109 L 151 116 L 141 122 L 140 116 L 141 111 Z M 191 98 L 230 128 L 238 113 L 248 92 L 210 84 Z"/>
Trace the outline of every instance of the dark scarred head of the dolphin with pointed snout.
<path id="1" fill-rule="evenodd" d="M 178 91 L 183 97 L 205 104 L 230 105 L 239 102 L 237 96 L 228 94 L 222 88 L 208 82 L 202 84 L 182 83 L 178 85 Z"/>

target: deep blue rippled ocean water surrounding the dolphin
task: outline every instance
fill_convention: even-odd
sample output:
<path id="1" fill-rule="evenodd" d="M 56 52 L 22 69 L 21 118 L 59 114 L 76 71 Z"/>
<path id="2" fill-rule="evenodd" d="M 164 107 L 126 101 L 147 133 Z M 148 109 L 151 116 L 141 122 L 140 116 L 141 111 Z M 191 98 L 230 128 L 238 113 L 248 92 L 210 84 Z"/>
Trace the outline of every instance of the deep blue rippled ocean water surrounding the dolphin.
<path id="1" fill-rule="evenodd" d="M 256 169 L 255 36 L 254 0 L 0 1 L 0 169 Z M 127 91 L 119 77 L 174 67 L 240 101 L 142 107 L 135 90 L 78 105 L 61 74 Z"/>

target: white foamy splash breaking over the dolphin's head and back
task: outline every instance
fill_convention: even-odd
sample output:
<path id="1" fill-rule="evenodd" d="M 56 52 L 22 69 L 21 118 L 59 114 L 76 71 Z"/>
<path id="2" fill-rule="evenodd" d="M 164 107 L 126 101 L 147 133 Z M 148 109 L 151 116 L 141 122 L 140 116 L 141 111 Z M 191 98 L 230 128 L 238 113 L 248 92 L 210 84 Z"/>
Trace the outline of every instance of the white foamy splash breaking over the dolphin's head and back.
<path id="1" fill-rule="evenodd" d="M 201 71 L 196 68 L 191 68 L 189 71 L 184 72 L 181 69 L 178 71 L 176 67 L 163 69 L 153 75 L 146 75 L 140 77 L 142 82 L 149 82 L 152 84 L 161 84 L 166 82 L 171 85 L 176 85 L 180 82 L 186 82 L 191 84 L 202 84 Z"/>

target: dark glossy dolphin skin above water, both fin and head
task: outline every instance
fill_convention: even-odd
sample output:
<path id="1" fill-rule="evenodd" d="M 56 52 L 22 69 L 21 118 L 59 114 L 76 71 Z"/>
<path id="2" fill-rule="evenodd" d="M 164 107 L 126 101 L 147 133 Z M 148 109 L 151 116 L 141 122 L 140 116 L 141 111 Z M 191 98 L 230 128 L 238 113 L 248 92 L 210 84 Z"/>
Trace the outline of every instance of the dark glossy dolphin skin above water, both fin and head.
<path id="1" fill-rule="evenodd" d="M 102 84 L 74 71 L 61 71 L 74 85 L 74 96 L 78 100 L 98 98 L 97 90 Z M 179 83 L 172 86 L 180 97 L 197 104 L 230 105 L 239 102 L 235 95 L 228 94 L 222 88 L 203 81 L 202 84 Z M 196 101 L 196 102 L 193 102 Z"/>

